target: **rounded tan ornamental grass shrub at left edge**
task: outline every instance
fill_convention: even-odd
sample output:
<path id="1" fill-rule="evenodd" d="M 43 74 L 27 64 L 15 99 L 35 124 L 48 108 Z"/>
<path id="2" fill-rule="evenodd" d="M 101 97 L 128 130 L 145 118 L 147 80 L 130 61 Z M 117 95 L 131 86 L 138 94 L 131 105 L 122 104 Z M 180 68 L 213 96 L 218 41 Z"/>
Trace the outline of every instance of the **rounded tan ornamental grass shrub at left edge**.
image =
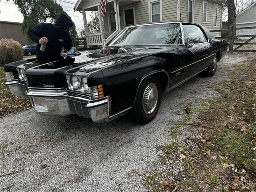
<path id="1" fill-rule="evenodd" d="M 23 49 L 18 41 L 0 39 L 0 66 L 23 59 Z"/>

